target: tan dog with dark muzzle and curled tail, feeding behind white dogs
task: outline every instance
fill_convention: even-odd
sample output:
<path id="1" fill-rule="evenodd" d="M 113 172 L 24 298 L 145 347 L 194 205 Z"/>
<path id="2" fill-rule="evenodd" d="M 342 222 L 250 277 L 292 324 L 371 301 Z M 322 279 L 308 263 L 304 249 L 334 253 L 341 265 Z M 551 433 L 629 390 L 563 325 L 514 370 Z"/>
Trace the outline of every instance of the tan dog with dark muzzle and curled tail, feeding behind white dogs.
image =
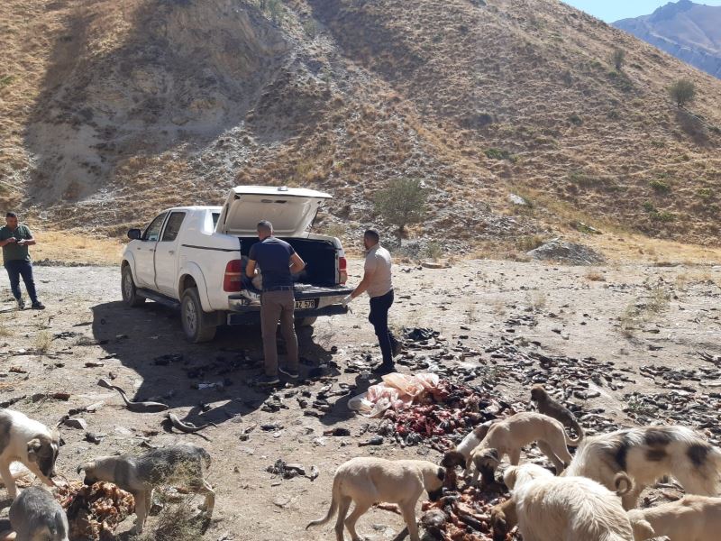
<path id="1" fill-rule="evenodd" d="M 472 482 L 477 483 L 482 474 L 484 484 L 491 484 L 504 455 L 507 454 L 509 462 L 516 465 L 521 460 L 521 448 L 534 441 L 551 460 L 557 473 L 571 461 L 566 446 L 575 446 L 579 442 L 566 436 L 561 422 L 552 417 L 531 411 L 516 413 L 494 423 L 480 445 L 471 452 L 466 470 L 470 469 L 471 463 L 475 466 Z"/>

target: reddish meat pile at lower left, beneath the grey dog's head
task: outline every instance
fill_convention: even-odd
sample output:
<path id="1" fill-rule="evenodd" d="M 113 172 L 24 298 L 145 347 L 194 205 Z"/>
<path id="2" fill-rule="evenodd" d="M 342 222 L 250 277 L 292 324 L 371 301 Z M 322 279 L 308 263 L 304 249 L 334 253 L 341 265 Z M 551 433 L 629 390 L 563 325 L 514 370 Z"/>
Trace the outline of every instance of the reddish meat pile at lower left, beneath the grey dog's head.
<path id="1" fill-rule="evenodd" d="M 72 481 L 59 488 L 57 498 L 68 514 L 69 537 L 78 541 L 97 541 L 104 531 L 113 532 L 135 509 L 132 494 L 110 482 L 88 487 Z"/>

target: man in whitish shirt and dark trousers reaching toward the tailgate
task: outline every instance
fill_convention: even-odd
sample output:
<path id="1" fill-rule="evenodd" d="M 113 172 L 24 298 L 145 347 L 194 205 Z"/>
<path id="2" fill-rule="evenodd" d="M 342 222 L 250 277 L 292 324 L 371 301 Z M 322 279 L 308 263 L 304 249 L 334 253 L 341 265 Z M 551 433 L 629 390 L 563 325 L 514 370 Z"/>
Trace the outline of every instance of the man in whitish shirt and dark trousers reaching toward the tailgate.
<path id="1" fill-rule="evenodd" d="M 397 354 L 399 344 L 388 329 L 388 310 L 393 305 L 393 280 L 390 268 L 392 261 L 388 250 L 380 245 L 377 231 L 369 229 L 363 234 L 363 245 L 366 249 L 366 262 L 363 280 L 353 289 L 351 295 L 343 299 L 346 306 L 353 298 L 368 292 L 370 297 L 370 315 L 368 320 L 376 331 L 383 362 L 373 370 L 377 374 L 394 371 L 393 356 Z"/>

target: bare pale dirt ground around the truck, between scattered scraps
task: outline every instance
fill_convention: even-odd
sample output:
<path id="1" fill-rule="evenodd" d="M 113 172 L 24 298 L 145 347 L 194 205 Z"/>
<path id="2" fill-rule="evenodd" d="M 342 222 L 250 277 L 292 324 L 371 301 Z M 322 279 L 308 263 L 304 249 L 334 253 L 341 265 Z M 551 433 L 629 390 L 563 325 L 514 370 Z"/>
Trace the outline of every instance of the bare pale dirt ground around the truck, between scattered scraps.
<path id="1" fill-rule="evenodd" d="M 351 261 L 350 267 L 350 283 L 354 284 L 360 280 L 361 261 Z M 333 538 L 330 525 L 308 532 L 304 527 L 309 520 L 324 516 L 333 471 L 340 463 L 367 454 L 439 458 L 424 445 L 359 447 L 368 436 L 356 435 L 369 419 L 353 414 L 346 406 L 347 398 L 337 399 L 322 418 L 306 417 L 295 396 L 284 398 L 288 390 L 278 390 L 287 408 L 277 413 L 262 411 L 268 395 L 246 384 L 257 369 L 219 373 L 233 360 L 242 359 L 245 352 L 260 361 L 258 328 L 223 329 L 210 344 L 187 344 L 178 314 L 172 310 L 151 302 L 140 308 L 123 306 L 119 268 L 36 267 L 35 271 L 41 299 L 48 306 L 43 312 L 17 312 L 5 273 L 0 273 L 0 397 L 5 401 L 27 395 L 13 408 L 47 425 L 54 425 L 70 408 L 105 402 L 96 413 L 79 416 L 87 421 L 87 430 L 61 429 L 66 445 L 61 448 L 58 471 L 69 479 L 76 479 L 78 464 L 91 457 L 143 452 L 142 441 L 151 445 L 194 442 L 204 445 L 214 460 L 209 480 L 217 503 L 204 538 L 301 541 Z M 625 393 L 661 391 L 667 385 L 643 376 L 639 372 L 642 366 L 708 368 L 709 363 L 697 352 L 721 353 L 719 267 L 617 264 L 589 270 L 537 262 L 461 261 L 440 270 L 397 265 L 394 280 L 394 326 L 432 327 L 449 338 L 450 344 L 460 341 L 480 352 L 462 361 L 449 359 L 449 363 L 492 366 L 491 356 L 483 351 L 506 336 L 516 337 L 516 343 L 539 343 L 529 347 L 543 353 L 590 356 L 613 362 L 619 370 L 628 369 L 635 383 L 619 381 L 616 391 L 605 387 L 597 398 L 577 400 L 584 409 L 604 408 L 619 425 L 633 424 L 623 412 Z M 340 367 L 332 381 L 359 386 L 351 395 L 369 381 L 344 372 L 346 362 L 367 353 L 379 354 L 366 319 L 367 299 L 354 301 L 352 309 L 347 316 L 319 320 L 312 333 L 308 330 L 299 336 L 301 355 L 308 362 L 332 359 Z M 169 353 L 182 359 L 168 365 L 154 363 L 155 358 Z M 188 377 L 192 369 L 197 370 L 191 375 L 199 377 Z M 400 366 L 399 371 L 407 369 Z M 111 372 L 116 385 L 140 399 L 168 397 L 175 391 L 163 401 L 178 417 L 196 425 L 207 421 L 218 425 L 202 433 L 210 441 L 167 432 L 161 426 L 162 413 L 127 411 L 114 391 L 96 385 Z M 498 395 L 509 402 L 525 401 L 528 389 L 510 379 L 504 382 L 503 375 L 495 390 Z M 224 388 L 193 389 L 198 383 L 215 381 L 224 381 Z M 304 383 L 300 390 L 315 395 L 328 382 Z M 708 386 L 718 390 L 719 382 Z M 58 391 L 68 392 L 69 400 L 44 397 Z M 38 396 L 33 400 L 33 395 Z M 202 405 L 210 409 L 204 412 Z M 269 423 L 282 428 L 260 428 Z M 242 441 L 243 429 L 254 424 L 258 426 Z M 335 426 L 349 428 L 351 436 L 323 436 L 324 430 Z M 86 431 L 105 437 L 95 445 L 86 441 Z M 278 479 L 266 472 L 278 458 L 301 463 L 306 470 L 315 465 L 320 475 L 315 481 Z M 0 516 L 6 512 L 4 509 Z M 130 527 L 132 521 L 126 520 L 119 532 Z M 378 509 L 359 522 L 361 535 L 374 540 L 392 539 L 401 528 L 400 518 Z"/>

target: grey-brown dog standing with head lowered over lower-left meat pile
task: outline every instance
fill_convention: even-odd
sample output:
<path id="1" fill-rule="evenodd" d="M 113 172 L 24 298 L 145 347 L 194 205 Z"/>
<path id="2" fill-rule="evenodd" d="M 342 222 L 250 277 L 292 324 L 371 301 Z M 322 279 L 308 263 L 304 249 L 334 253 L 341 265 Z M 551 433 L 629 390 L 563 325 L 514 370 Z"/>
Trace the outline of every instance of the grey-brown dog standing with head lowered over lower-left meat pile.
<path id="1" fill-rule="evenodd" d="M 210 468 L 210 455 L 197 445 L 168 445 L 140 456 L 102 456 L 78 466 L 78 474 L 85 472 L 85 484 L 109 481 L 135 499 L 137 533 L 142 533 L 152 492 L 161 485 L 182 484 L 188 491 L 205 495 L 206 518 L 211 518 L 215 504 L 213 487 L 205 481 L 203 470 Z"/>

